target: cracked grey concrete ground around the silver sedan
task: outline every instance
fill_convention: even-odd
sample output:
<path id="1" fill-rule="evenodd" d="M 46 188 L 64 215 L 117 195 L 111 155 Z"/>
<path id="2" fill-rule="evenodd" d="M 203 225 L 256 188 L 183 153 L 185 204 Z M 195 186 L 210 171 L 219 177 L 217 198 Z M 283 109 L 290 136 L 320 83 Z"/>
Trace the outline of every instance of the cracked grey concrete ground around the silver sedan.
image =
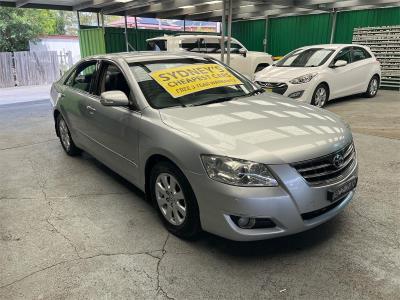
<path id="1" fill-rule="evenodd" d="M 356 128 L 367 118 L 346 107 L 386 105 L 392 116 L 395 95 L 328 109 Z M 386 126 L 384 115 L 371 120 Z M 1 299 L 398 299 L 394 136 L 354 134 L 358 192 L 329 223 L 262 242 L 206 233 L 189 242 L 167 233 L 134 186 L 86 154 L 65 155 L 53 128 L 48 101 L 0 106 Z"/>

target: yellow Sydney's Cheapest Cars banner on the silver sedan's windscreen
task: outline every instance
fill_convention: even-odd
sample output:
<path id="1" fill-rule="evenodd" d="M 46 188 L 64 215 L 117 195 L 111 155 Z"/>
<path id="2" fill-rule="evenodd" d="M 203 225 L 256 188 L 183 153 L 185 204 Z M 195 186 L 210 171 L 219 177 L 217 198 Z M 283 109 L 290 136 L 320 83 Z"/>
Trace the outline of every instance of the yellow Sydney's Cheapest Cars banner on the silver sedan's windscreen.
<path id="1" fill-rule="evenodd" d="M 172 97 L 178 98 L 221 86 L 243 84 L 231 72 L 217 64 L 198 64 L 150 73 Z"/>

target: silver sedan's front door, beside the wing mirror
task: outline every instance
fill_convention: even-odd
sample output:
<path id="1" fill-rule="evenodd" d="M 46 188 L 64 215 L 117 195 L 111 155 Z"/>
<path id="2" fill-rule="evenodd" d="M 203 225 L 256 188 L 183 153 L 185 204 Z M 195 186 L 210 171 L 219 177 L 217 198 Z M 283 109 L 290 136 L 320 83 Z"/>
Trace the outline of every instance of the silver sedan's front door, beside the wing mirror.
<path id="1" fill-rule="evenodd" d="M 102 61 L 96 83 L 96 95 L 87 98 L 92 111 L 87 118 L 90 137 L 96 143 L 95 156 L 135 183 L 138 178 L 139 137 L 141 113 L 134 105 L 104 106 L 101 93 L 122 91 L 133 103 L 133 93 L 120 67 L 111 61 Z"/>

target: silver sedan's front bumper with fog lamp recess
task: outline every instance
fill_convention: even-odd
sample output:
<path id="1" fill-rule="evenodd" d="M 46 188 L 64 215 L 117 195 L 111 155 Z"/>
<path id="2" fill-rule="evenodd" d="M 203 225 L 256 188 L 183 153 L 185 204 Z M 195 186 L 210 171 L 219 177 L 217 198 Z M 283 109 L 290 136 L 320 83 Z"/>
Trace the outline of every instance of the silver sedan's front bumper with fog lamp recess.
<path id="1" fill-rule="evenodd" d="M 278 187 L 230 186 L 213 181 L 207 175 L 188 174 L 199 204 L 202 228 L 236 241 L 290 235 L 330 220 L 347 206 L 355 193 L 355 190 L 350 191 L 334 204 L 327 199 L 328 190 L 357 176 L 357 164 L 343 180 L 318 187 L 310 186 L 290 165 L 270 168 L 280 179 Z M 276 226 L 242 229 L 230 216 L 268 218 Z"/>

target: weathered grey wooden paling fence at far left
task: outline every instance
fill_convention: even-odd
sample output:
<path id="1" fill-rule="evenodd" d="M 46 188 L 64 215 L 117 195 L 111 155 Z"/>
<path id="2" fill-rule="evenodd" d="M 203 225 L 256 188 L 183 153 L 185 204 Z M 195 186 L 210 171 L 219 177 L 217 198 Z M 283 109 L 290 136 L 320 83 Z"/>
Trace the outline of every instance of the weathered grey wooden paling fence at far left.
<path id="1" fill-rule="evenodd" d="M 71 66 L 71 53 L 0 52 L 0 88 L 51 84 Z"/>

